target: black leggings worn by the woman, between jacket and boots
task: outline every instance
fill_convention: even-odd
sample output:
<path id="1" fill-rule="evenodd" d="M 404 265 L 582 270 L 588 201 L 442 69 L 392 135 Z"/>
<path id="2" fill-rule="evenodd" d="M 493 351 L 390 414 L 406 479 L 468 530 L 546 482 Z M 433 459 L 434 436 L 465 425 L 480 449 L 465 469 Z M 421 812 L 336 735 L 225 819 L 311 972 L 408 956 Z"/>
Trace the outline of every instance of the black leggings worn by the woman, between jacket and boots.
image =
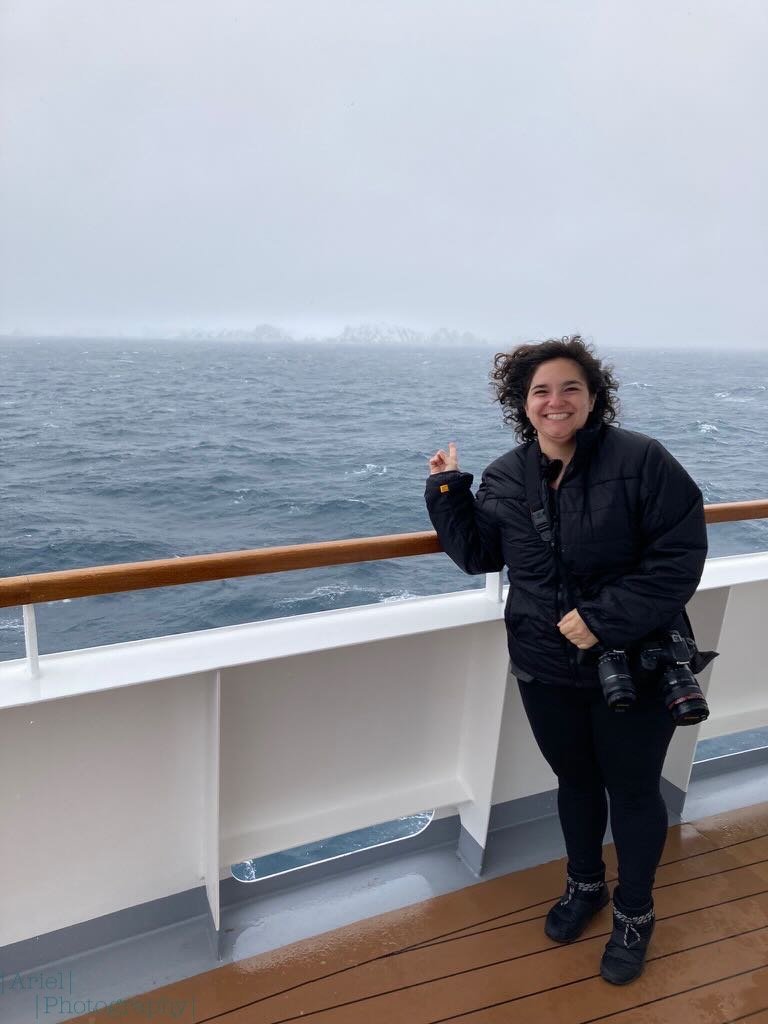
<path id="1" fill-rule="evenodd" d="M 667 839 L 667 805 L 658 785 L 675 731 L 660 694 L 640 690 L 635 708 L 612 712 L 597 687 L 536 680 L 518 680 L 518 686 L 539 749 L 557 775 L 568 870 L 579 881 L 589 881 L 605 869 L 607 790 L 620 902 L 646 906 Z"/>

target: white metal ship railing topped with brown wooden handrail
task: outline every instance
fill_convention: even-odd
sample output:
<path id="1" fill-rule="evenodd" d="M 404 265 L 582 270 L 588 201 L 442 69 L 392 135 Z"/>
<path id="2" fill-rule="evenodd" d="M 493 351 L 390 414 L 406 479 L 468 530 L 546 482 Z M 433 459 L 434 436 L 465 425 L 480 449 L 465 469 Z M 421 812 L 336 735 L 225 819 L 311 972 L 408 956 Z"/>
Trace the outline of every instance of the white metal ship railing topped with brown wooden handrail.
<path id="1" fill-rule="evenodd" d="M 768 502 L 709 506 L 759 518 Z M 228 865 L 428 808 L 458 812 L 479 869 L 492 807 L 555 780 L 508 685 L 500 574 L 434 597 L 38 655 L 41 601 L 440 550 L 434 534 L 0 581 L 27 656 L 0 663 L 0 946 L 205 886 Z M 709 559 L 689 612 L 712 715 L 678 729 L 668 792 L 698 738 L 768 725 L 758 674 L 768 552 Z"/>

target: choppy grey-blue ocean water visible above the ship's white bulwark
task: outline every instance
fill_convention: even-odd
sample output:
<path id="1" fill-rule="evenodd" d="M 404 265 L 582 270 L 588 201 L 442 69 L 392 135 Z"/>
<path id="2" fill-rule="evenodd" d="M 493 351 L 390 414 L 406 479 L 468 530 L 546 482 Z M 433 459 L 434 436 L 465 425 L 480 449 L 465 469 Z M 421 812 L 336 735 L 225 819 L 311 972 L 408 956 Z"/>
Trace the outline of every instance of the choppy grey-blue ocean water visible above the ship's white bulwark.
<path id="1" fill-rule="evenodd" d="M 0 575 L 431 529 L 427 460 L 475 474 L 516 442 L 496 348 L 0 343 Z M 768 497 L 768 353 L 601 349 L 620 422 L 658 437 L 708 502 Z M 768 521 L 710 553 L 768 550 Z M 482 586 L 444 555 L 38 606 L 42 653 Z M 0 658 L 24 654 L 0 609 Z"/>

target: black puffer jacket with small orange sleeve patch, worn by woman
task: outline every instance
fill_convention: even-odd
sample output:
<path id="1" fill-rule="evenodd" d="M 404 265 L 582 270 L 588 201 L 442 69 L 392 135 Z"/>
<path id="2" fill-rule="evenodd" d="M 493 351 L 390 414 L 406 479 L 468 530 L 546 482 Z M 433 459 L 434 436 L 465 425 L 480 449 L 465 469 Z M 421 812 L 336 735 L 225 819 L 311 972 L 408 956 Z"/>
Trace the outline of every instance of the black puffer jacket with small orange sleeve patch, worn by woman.
<path id="1" fill-rule="evenodd" d="M 558 586 L 552 550 L 530 519 L 527 443 L 487 467 L 474 498 L 471 473 L 428 477 L 429 517 L 465 572 L 508 566 L 504 617 L 513 671 L 545 683 L 595 686 L 596 655 L 580 654 L 557 623 L 577 607 L 606 648 L 631 649 L 659 629 L 688 634 L 682 612 L 707 557 L 701 492 L 658 441 L 631 430 L 606 424 L 580 430 L 557 490 L 547 478 L 559 464 L 529 443 L 569 592 Z"/>

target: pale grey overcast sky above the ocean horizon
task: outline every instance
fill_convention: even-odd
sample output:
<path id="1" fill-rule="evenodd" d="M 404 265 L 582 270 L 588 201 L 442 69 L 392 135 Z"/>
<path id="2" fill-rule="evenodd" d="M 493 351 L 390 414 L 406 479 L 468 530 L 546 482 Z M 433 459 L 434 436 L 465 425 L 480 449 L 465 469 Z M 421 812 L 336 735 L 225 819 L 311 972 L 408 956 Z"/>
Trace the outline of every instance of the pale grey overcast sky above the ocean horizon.
<path id="1" fill-rule="evenodd" d="M 768 345 L 765 0 L 3 0 L 0 332 Z"/>

